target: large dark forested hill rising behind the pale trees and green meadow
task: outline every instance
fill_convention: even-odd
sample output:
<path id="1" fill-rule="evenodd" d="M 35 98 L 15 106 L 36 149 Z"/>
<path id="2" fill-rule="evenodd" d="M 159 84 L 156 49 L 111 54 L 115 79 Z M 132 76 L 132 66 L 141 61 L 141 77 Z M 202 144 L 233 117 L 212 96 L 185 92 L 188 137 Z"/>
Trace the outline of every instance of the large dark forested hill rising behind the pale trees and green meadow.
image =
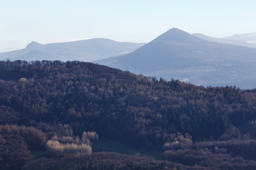
<path id="1" fill-rule="evenodd" d="M 206 88 L 79 61 L 0 61 L 0 79 L 0 124 L 32 126 L 45 142 L 79 140 L 85 131 L 146 149 L 256 137 L 255 89 Z"/>

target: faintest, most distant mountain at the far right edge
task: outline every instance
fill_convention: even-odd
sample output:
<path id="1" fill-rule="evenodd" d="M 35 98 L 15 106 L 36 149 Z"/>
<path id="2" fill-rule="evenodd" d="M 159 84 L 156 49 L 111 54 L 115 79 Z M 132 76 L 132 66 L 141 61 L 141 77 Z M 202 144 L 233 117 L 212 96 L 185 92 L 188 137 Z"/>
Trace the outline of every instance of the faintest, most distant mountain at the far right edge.
<path id="1" fill-rule="evenodd" d="M 230 37 L 223 37 L 223 39 L 229 39 L 234 41 L 244 41 L 251 44 L 256 44 L 256 32 L 247 34 L 234 34 Z"/>

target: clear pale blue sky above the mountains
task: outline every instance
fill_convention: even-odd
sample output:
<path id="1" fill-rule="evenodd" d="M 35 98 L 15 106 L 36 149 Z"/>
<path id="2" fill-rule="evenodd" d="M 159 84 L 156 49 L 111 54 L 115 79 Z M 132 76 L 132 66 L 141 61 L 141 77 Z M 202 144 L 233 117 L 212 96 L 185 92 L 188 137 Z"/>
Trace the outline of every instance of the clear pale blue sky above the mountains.
<path id="1" fill-rule="evenodd" d="M 175 27 L 210 37 L 256 32 L 256 0 L 0 0 L 0 50 L 90 38 L 150 42 Z"/>

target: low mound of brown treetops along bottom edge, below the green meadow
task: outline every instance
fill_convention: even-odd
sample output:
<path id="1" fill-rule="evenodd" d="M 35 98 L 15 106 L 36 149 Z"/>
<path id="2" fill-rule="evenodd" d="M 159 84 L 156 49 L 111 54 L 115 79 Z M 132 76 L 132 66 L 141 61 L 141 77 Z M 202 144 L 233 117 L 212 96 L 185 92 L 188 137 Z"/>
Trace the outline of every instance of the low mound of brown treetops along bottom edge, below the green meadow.
<path id="1" fill-rule="evenodd" d="M 185 167 L 178 163 L 158 161 L 146 156 L 96 152 L 68 158 L 42 158 L 28 163 L 23 170 L 177 170 L 175 166 Z"/>

